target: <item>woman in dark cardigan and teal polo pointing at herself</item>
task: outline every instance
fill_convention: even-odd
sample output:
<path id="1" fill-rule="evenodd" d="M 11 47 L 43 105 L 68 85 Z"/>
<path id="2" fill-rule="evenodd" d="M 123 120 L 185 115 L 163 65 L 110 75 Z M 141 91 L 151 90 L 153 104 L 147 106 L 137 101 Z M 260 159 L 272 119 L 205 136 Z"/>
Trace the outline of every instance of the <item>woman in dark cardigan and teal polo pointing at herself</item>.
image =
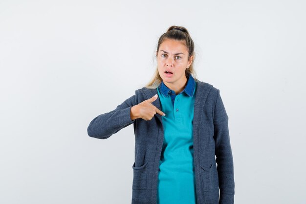
<path id="1" fill-rule="evenodd" d="M 228 116 L 219 90 L 194 78 L 187 29 L 161 35 L 156 58 L 153 80 L 95 117 L 88 135 L 106 139 L 133 123 L 132 204 L 233 204 Z"/>

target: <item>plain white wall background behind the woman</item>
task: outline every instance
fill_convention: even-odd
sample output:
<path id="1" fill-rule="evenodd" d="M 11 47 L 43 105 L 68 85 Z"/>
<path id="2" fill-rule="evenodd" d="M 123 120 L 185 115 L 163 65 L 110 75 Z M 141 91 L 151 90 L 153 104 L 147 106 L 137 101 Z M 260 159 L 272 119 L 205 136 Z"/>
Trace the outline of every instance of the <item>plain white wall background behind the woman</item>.
<path id="1" fill-rule="evenodd" d="M 235 204 L 305 204 L 302 0 L 0 0 L 0 203 L 131 203 L 132 125 L 89 122 L 143 87 L 185 26 L 229 116 Z"/>

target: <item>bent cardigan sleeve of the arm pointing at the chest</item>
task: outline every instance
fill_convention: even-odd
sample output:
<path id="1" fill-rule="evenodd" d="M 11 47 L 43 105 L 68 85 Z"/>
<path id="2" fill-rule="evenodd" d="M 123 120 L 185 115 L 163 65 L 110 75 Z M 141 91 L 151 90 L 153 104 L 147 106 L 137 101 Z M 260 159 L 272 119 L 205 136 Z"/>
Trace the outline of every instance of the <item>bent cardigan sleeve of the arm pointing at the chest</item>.
<path id="1" fill-rule="evenodd" d="M 88 136 L 107 139 L 122 128 L 131 125 L 135 121 L 131 120 L 131 107 L 137 105 L 136 102 L 135 94 L 118 105 L 115 110 L 96 116 L 87 127 Z"/>

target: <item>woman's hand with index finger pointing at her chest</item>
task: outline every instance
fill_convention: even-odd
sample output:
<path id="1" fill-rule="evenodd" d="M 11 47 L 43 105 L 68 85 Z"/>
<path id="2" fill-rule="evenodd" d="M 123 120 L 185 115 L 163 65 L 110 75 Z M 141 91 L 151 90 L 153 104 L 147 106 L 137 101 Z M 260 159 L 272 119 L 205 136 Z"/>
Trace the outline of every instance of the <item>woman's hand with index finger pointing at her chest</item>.
<path id="1" fill-rule="evenodd" d="M 154 114 L 158 113 L 162 116 L 166 114 L 160 111 L 158 108 L 152 105 L 152 102 L 157 99 L 157 94 L 152 98 L 145 100 L 133 107 L 131 107 L 131 120 L 142 118 L 144 120 L 151 120 L 154 117 Z"/>

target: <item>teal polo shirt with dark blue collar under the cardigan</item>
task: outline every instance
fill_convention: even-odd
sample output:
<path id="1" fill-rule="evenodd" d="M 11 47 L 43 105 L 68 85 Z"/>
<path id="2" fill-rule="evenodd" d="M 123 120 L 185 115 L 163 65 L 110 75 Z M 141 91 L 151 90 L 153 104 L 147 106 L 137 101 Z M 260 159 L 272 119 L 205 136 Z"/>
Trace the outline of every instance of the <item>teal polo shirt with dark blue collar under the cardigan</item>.
<path id="1" fill-rule="evenodd" d="M 164 142 L 159 161 L 157 204 L 197 204 L 193 161 L 194 93 L 189 75 L 183 91 L 175 95 L 163 82 L 157 88 L 161 103 Z"/>

